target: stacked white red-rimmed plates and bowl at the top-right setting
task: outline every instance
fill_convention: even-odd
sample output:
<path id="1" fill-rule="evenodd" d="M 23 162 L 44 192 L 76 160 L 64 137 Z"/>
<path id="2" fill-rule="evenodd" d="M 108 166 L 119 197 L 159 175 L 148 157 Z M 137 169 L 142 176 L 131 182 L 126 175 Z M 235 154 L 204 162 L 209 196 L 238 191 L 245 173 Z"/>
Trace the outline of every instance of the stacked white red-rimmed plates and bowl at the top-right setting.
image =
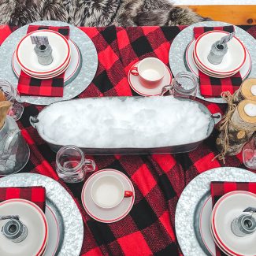
<path id="1" fill-rule="evenodd" d="M 228 32 L 206 32 L 187 46 L 187 65 L 195 75 L 198 76 L 198 70 L 208 76 L 217 78 L 233 76 L 239 71 L 242 79 L 249 74 L 251 68 L 250 54 L 236 36 L 228 42 L 228 52 L 224 55 L 221 64 L 214 65 L 208 61 L 207 57 L 211 46 L 224 35 L 228 35 Z"/>

